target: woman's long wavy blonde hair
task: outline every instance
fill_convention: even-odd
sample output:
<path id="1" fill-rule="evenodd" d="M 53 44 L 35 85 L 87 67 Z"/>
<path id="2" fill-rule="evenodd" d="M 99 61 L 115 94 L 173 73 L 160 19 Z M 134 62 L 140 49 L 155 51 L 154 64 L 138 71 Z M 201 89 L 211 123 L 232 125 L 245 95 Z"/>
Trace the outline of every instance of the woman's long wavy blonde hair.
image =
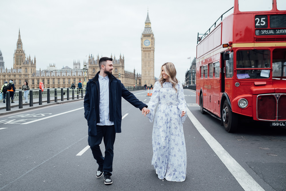
<path id="1" fill-rule="evenodd" d="M 165 64 L 162 65 L 159 83 L 163 87 L 163 83 L 166 82 L 166 79 L 164 79 L 163 75 L 162 75 L 163 66 L 165 66 L 165 74 L 167 74 L 169 76 L 169 82 L 172 83 L 173 88 L 177 92 L 178 91 L 176 88 L 176 85 L 178 84 L 178 80 L 176 78 L 177 72 L 176 72 L 176 68 L 172 62 L 166 62 Z"/>

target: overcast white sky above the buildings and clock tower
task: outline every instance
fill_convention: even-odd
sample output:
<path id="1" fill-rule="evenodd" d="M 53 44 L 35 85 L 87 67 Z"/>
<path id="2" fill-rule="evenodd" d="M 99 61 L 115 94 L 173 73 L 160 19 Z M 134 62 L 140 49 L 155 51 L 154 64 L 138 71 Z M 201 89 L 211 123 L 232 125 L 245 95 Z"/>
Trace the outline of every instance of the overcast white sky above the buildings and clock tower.
<path id="1" fill-rule="evenodd" d="M 204 33 L 233 7 L 233 0 L 49 0 L 1 1 L 0 49 L 5 68 L 13 66 L 19 28 L 26 56 L 36 56 L 37 70 L 81 68 L 90 54 L 125 58 L 125 70 L 141 74 L 141 34 L 149 10 L 155 37 L 155 76 L 173 62 L 185 79 L 196 57 L 198 32 Z M 187 59 L 191 57 L 191 59 Z"/>

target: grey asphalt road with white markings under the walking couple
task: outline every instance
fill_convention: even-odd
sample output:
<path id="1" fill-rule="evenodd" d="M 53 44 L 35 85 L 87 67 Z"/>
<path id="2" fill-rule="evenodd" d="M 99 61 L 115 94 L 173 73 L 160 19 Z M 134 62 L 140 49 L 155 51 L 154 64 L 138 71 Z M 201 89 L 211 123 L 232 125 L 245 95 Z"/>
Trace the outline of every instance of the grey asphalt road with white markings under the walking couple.
<path id="1" fill-rule="evenodd" d="M 133 93 L 150 100 L 147 91 Z M 227 133 L 219 120 L 200 113 L 193 91 L 184 94 L 184 182 L 157 178 L 151 166 L 153 123 L 122 99 L 113 184 L 104 185 L 87 147 L 81 100 L 0 117 L 0 190 L 286 190 L 286 129 L 242 123 L 237 133 Z"/>

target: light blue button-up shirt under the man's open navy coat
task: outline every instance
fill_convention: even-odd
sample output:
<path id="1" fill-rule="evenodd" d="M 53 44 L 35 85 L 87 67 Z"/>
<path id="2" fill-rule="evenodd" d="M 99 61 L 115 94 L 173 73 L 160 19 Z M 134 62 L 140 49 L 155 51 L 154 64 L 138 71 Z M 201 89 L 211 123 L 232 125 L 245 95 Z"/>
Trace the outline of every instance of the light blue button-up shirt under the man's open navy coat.
<path id="1" fill-rule="evenodd" d="M 108 76 L 98 75 L 100 86 L 100 100 L 99 100 L 99 117 L 100 123 L 96 125 L 114 125 L 113 121 L 109 121 L 109 78 Z"/>

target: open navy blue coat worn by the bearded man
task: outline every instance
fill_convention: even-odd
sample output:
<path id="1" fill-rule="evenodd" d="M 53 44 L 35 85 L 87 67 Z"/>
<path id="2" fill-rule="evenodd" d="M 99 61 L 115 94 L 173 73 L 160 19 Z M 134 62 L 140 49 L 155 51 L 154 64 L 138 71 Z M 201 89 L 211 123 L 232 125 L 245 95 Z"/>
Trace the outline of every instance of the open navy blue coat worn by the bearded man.
<path id="1" fill-rule="evenodd" d="M 100 100 L 100 86 L 98 81 L 98 72 L 94 78 L 88 80 L 86 84 L 86 95 L 84 96 L 84 117 L 88 121 L 88 135 L 97 135 L 96 124 L 100 123 L 99 117 L 99 100 Z M 116 133 L 121 133 L 121 97 L 126 99 L 134 107 L 139 108 L 148 107 L 142 101 L 139 101 L 134 94 L 128 91 L 120 80 L 113 75 L 109 77 L 109 120 L 114 122 Z"/>

